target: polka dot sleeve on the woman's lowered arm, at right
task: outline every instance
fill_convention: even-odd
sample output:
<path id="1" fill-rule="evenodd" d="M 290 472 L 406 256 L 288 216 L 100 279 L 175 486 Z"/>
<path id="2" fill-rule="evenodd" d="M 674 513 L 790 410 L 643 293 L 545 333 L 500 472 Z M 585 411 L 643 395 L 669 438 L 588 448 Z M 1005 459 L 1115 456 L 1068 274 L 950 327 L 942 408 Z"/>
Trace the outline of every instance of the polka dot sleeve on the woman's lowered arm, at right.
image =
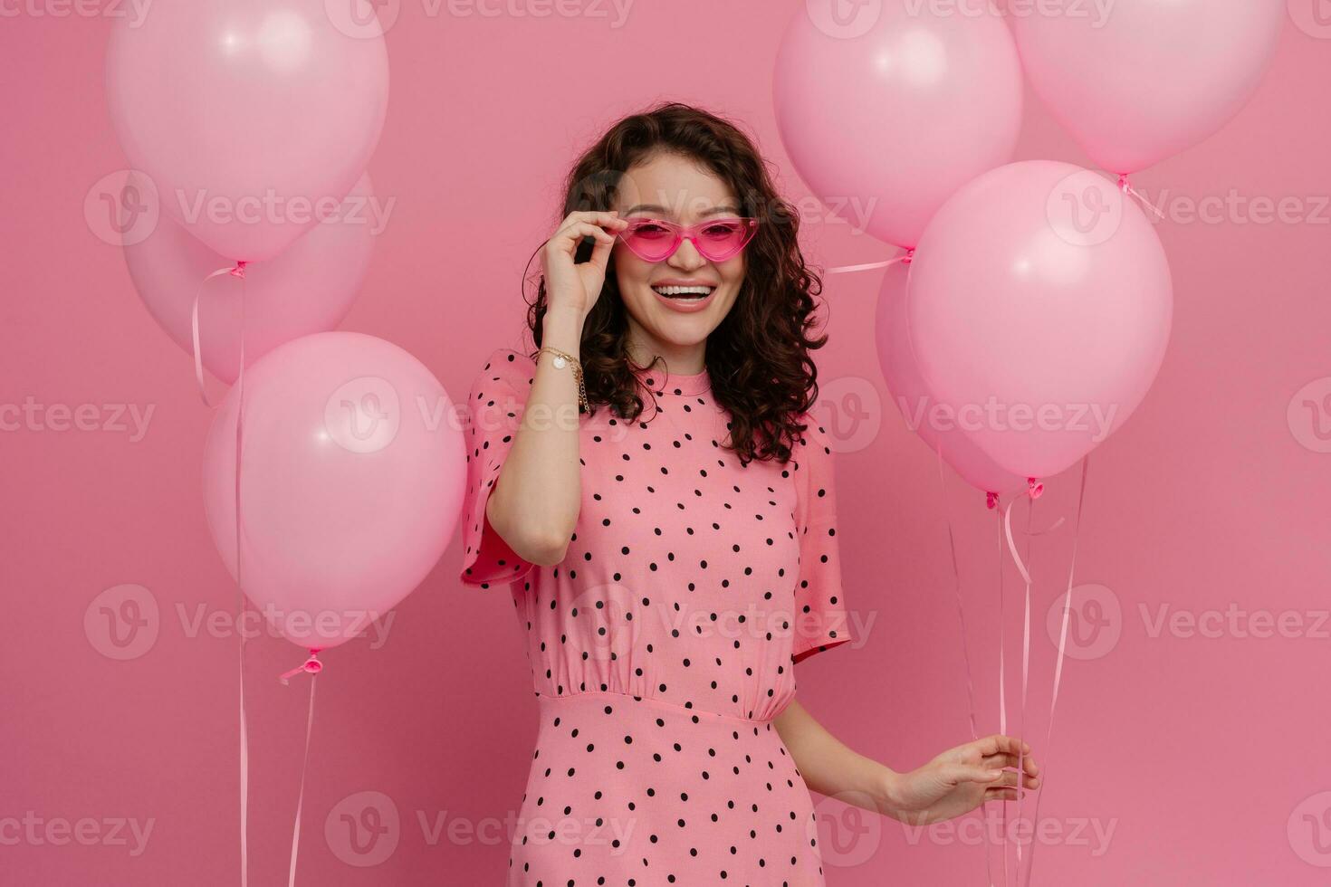
<path id="1" fill-rule="evenodd" d="M 800 541 L 800 578 L 795 586 L 795 662 L 855 640 L 841 593 L 841 559 L 836 539 L 836 485 L 832 447 L 817 419 L 793 447 L 795 528 Z"/>

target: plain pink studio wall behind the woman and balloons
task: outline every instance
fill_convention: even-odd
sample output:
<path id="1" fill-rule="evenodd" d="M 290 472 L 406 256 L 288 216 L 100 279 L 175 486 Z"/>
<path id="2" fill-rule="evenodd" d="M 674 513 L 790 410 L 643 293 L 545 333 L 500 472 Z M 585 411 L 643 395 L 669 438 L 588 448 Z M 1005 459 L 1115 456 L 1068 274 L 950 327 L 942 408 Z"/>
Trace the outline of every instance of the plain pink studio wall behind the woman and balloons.
<path id="1" fill-rule="evenodd" d="M 548 17 L 518 15 L 531 8 L 520 3 L 487 7 L 510 11 L 498 16 L 470 5 L 458 8 L 471 15 L 450 15 L 447 4 L 431 16 L 435 4 L 402 3 L 387 36 L 387 124 L 370 164 L 381 201 L 395 203 L 341 328 L 401 344 L 465 396 L 491 348 L 519 344 L 520 274 L 548 234 L 575 150 L 658 97 L 747 124 L 808 211 L 805 243 L 819 266 L 893 254 L 825 222 L 777 140 L 771 65 L 800 5 L 643 0 L 619 23 L 608 3 Z M 1109 589 L 1109 624 L 1079 636 L 1098 646 L 1066 665 L 1047 751 L 1045 614 L 1065 581 L 1067 525 L 1036 544 L 1026 737 L 1047 767 L 1041 814 L 1063 834 L 1038 847 L 1036 883 L 1331 878 L 1331 795 L 1320 795 L 1331 793 L 1331 626 L 1318 616 L 1331 576 L 1331 28 L 1315 25 L 1311 3 L 1292 5 L 1299 16 L 1242 114 L 1134 177 L 1153 199 L 1165 195 L 1173 215 L 1158 230 L 1175 278 L 1174 334 L 1146 402 L 1091 455 L 1077 581 Z M 225 624 L 194 628 L 200 614 L 225 622 L 236 605 L 200 495 L 210 412 L 188 356 L 134 294 L 121 251 L 84 221 L 85 197 L 125 160 L 101 89 L 109 23 L 52 13 L 61 8 L 7 8 L 0 28 L 0 403 L 98 404 L 105 422 L 116 419 L 106 404 L 153 412 L 141 438 L 12 422 L 0 434 L 9 625 L 0 821 L 11 822 L 0 828 L 0 882 L 237 883 L 236 637 Z M 1018 158 L 1085 162 L 1028 98 Z M 1230 194 L 1238 209 L 1219 223 L 1186 215 L 1189 201 Z M 1306 221 L 1247 221 L 1250 201 L 1282 198 L 1296 198 Z M 997 730 L 997 545 L 978 493 L 949 473 L 946 504 L 940 499 L 932 453 L 885 391 L 873 351 L 880 279 L 827 279 L 831 344 L 820 352 L 821 408 L 841 448 L 847 598 L 866 642 L 801 665 L 800 698 L 852 747 L 901 770 L 969 738 L 945 508 L 957 520 L 981 730 Z M 1075 469 L 1046 483 L 1036 523 L 1067 515 L 1070 524 Z M 1014 520 L 1024 524 L 1021 508 Z M 357 641 L 325 656 L 302 883 L 504 876 L 535 705 L 507 590 L 463 588 L 458 563 L 455 541 L 397 609 L 382 646 Z M 128 661 L 100 653 L 84 628 L 93 598 L 121 584 L 146 588 L 158 606 L 156 641 Z M 1010 569 L 1006 588 L 1017 731 Z M 1231 606 L 1255 618 L 1231 620 Z M 1158 632 L 1159 608 L 1219 630 Z M 1292 613 L 1283 618 L 1302 628 L 1255 637 L 1263 613 L 1275 624 Z M 252 883 L 276 884 L 286 874 L 306 688 L 273 680 L 302 660 L 286 641 L 260 637 L 249 657 Z M 382 836 L 397 844 L 377 866 L 342 859 L 365 860 L 338 827 L 343 809 L 365 806 L 365 797 L 346 801 L 358 793 L 382 793 L 399 815 Z M 29 811 L 57 831 L 16 831 L 9 818 Z M 820 805 L 831 886 L 982 883 L 973 836 L 912 835 L 845 811 Z M 48 839 L 60 838 L 60 822 L 84 818 L 98 823 L 92 846 Z M 152 823 L 141 852 L 117 819 Z M 1113 830 L 1107 844 L 1097 827 Z"/>

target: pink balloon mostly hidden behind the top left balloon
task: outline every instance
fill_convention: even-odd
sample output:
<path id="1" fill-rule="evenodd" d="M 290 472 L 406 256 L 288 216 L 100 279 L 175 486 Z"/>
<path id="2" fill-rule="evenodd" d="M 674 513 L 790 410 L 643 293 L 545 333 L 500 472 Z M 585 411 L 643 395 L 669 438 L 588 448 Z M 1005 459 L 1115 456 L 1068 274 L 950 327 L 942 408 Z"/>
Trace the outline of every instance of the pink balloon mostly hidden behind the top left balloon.
<path id="1" fill-rule="evenodd" d="M 291 339 L 331 330 L 359 293 L 370 267 L 375 226 L 374 191 L 362 176 L 341 210 L 282 253 L 245 269 L 245 364 Z M 125 246 L 125 263 L 148 310 L 186 354 L 193 351 L 190 315 L 204 278 L 228 259 L 160 219 L 146 239 Z M 241 290 L 234 277 L 204 285 L 198 338 L 204 366 L 232 383 L 240 368 Z"/>

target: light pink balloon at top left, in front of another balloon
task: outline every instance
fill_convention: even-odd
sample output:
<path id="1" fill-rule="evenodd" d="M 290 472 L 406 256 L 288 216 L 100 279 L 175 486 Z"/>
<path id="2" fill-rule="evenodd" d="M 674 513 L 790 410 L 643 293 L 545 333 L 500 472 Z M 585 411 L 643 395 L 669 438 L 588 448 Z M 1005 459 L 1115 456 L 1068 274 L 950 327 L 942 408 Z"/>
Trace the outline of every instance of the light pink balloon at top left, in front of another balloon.
<path id="1" fill-rule="evenodd" d="M 116 20 L 116 134 L 162 210 L 214 251 L 273 258 L 365 170 L 389 60 L 377 27 L 346 31 L 325 0 L 161 3 L 141 23 Z"/>

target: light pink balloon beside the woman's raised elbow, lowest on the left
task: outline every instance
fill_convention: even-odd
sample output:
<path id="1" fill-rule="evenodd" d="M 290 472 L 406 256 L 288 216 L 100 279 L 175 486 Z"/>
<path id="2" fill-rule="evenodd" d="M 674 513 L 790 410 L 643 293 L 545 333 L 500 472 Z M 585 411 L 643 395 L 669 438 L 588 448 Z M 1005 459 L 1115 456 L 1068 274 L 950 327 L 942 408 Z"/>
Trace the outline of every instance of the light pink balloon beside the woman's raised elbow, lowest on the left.
<path id="1" fill-rule="evenodd" d="M 237 391 L 204 455 L 208 527 L 233 577 Z M 274 348 L 244 392 L 241 588 L 293 644 L 337 646 L 447 548 L 466 485 L 458 416 L 419 360 L 359 332 Z"/>

